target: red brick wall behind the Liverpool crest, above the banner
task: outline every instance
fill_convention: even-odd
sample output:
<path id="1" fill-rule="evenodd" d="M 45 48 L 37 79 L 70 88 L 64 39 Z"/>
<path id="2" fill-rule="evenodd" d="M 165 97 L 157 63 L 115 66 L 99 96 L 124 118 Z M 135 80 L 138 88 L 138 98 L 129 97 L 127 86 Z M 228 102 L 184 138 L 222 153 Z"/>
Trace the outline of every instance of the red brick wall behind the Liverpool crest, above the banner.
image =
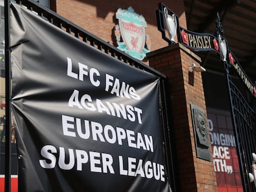
<path id="1" fill-rule="evenodd" d="M 168 45 L 168 43 L 162 39 L 161 33 L 157 28 L 156 10 L 158 10 L 159 2 L 163 2 L 176 12 L 180 17 L 180 25 L 186 28 L 186 15 L 184 14 L 183 1 L 54 0 L 51 6 L 54 7 L 53 9 L 62 17 L 74 22 L 110 44 L 116 43 L 115 38 L 113 38 L 113 28 L 117 24 L 115 17 L 117 9 L 127 9 L 131 6 L 134 11 L 142 15 L 147 22 L 146 33 L 150 35 L 151 51 L 153 51 Z"/>

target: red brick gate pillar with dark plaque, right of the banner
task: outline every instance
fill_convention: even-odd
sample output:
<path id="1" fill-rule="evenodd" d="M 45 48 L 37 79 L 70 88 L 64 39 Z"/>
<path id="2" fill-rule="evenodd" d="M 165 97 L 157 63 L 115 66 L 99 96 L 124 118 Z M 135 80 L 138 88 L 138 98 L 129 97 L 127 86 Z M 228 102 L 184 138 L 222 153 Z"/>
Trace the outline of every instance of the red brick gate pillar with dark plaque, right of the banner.
<path id="1" fill-rule="evenodd" d="M 190 111 L 190 104 L 194 104 L 207 115 L 201 73 L 189 69 L 192 63 L 200 65 L 201 59 L 179 43 L 150 52 L 148 59 L 149 65 L 169 81 L 179 191 L 218 191 L 212 159 L 205 161 L 197 157 Z"/>

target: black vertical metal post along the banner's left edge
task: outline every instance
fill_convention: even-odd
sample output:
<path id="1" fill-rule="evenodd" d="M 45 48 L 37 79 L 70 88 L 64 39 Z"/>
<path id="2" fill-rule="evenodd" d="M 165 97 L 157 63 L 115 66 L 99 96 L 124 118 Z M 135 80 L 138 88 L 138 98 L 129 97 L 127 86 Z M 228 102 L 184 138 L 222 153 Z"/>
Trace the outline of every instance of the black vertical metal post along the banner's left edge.
<path id="1" fill-rule="evenodd" d="M 6 148 L 4 191 L 11 191 L 11 57 L 10 57 L 10 0 L 4 0 L 5 75 L 6 75 Z"/>

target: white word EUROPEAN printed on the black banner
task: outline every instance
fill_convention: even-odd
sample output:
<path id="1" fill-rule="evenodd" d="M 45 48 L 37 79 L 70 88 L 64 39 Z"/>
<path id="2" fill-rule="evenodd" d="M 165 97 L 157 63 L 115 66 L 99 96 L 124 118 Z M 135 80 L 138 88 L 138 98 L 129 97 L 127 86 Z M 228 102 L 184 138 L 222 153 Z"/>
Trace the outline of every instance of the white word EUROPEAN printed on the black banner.
<path id="1" fill-rule="evenodd" d="M 123 145 L 124 141 L 130 148 L 143 149 L 154 152 L 153 137 L 151 135 L 135 133 L 133 130 L 124 130 L 121 127 L 114 128 L 111 125 L 101 125 L 101 123 L 80 118 L 61 115 L 63 135 L 77 137 L 87 140 L 118 143 Z"/>

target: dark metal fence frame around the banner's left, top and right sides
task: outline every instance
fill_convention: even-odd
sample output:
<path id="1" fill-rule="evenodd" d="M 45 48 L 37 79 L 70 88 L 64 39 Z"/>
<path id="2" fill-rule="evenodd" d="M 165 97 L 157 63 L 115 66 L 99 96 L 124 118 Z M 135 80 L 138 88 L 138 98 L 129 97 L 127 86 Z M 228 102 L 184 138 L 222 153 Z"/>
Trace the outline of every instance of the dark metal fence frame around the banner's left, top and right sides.
<path id="1" fill-rule="evenodd" d="M 173 130 L 171 128 L 171 111 L 169 111 L 169 101 L 168 101 L 168 79 L 165 75 L 158 72 L 157 70 L 149 67 L 148 65 L 143 64 L 137 59 L 134 59 L 133 57 L 129 56 L 125 52 L 120 51 L 116 47 L 112 46 L 111 44 L 101 40 L 100 38 L 96 37 L 92 33 L 84 30 L 83 28 L 80 28 L 79 26 L 75 25 L 74 23 L 70 22 L 67 19 L 64 19 L 64 17 L 61 17 L 60 15 L 56 14 L 56 12 L 53 12 L 50 9 L 47 9 L 46 7 L 40 6 L 35 1 L 32 0 L 16 0 L 17 4 L 21 4 L 25 7 L 27 7 L 28 10 L 32 10 L 33 12 L 36 12 L 40 17 L 42 17 L 45 20 L 48 20 L 48 22 L 52 23 L 56 27 L 61 28 L 62 30 L 66 30 L 67 33 L 69 33 L 72 36 L 75 36 L 79 40 L 90 44 L 96 49 L 99 49 L 109 56 L 112 56 L 116 59 L 119 59 L 119 61 L 122 61 L 126 64 L 132 65 L 133 67 L 136 67 L 141 70 L 145 70 L 147 72 L 153 73 L 154 75 L 157 75 L 158 78 L 160 78 L 160 115 L 163 125 L 163 136 L 164 136 L 164 149 L 166 154 L 166 165 L 168 169 L 168 181 L 171 184 L 171 188 L 173 191 L 177 191 L 177 185 L 176 180 L 177 178 L 175 175 L 177 175 L 177 170 L 174 165 L 174 157 L 173 157 L 173 151 L 174 151 L 174 136 L 173 136 Z M 11 52 L 11 45 L 9 44 L 9 9 L 10 9 L 10 1 L 5 0 L 5 23 L 6 23 L 6 138 L 8 142 L 6 142 L 6 180 L 5 180 L 5 191 L 11 191 L 11 106 L 10 106 L 10 100 L 11 100 L 11 61 L 10 61 L 10 52 Z M 9 121 L 8 121 L 9 119 Z"/>

